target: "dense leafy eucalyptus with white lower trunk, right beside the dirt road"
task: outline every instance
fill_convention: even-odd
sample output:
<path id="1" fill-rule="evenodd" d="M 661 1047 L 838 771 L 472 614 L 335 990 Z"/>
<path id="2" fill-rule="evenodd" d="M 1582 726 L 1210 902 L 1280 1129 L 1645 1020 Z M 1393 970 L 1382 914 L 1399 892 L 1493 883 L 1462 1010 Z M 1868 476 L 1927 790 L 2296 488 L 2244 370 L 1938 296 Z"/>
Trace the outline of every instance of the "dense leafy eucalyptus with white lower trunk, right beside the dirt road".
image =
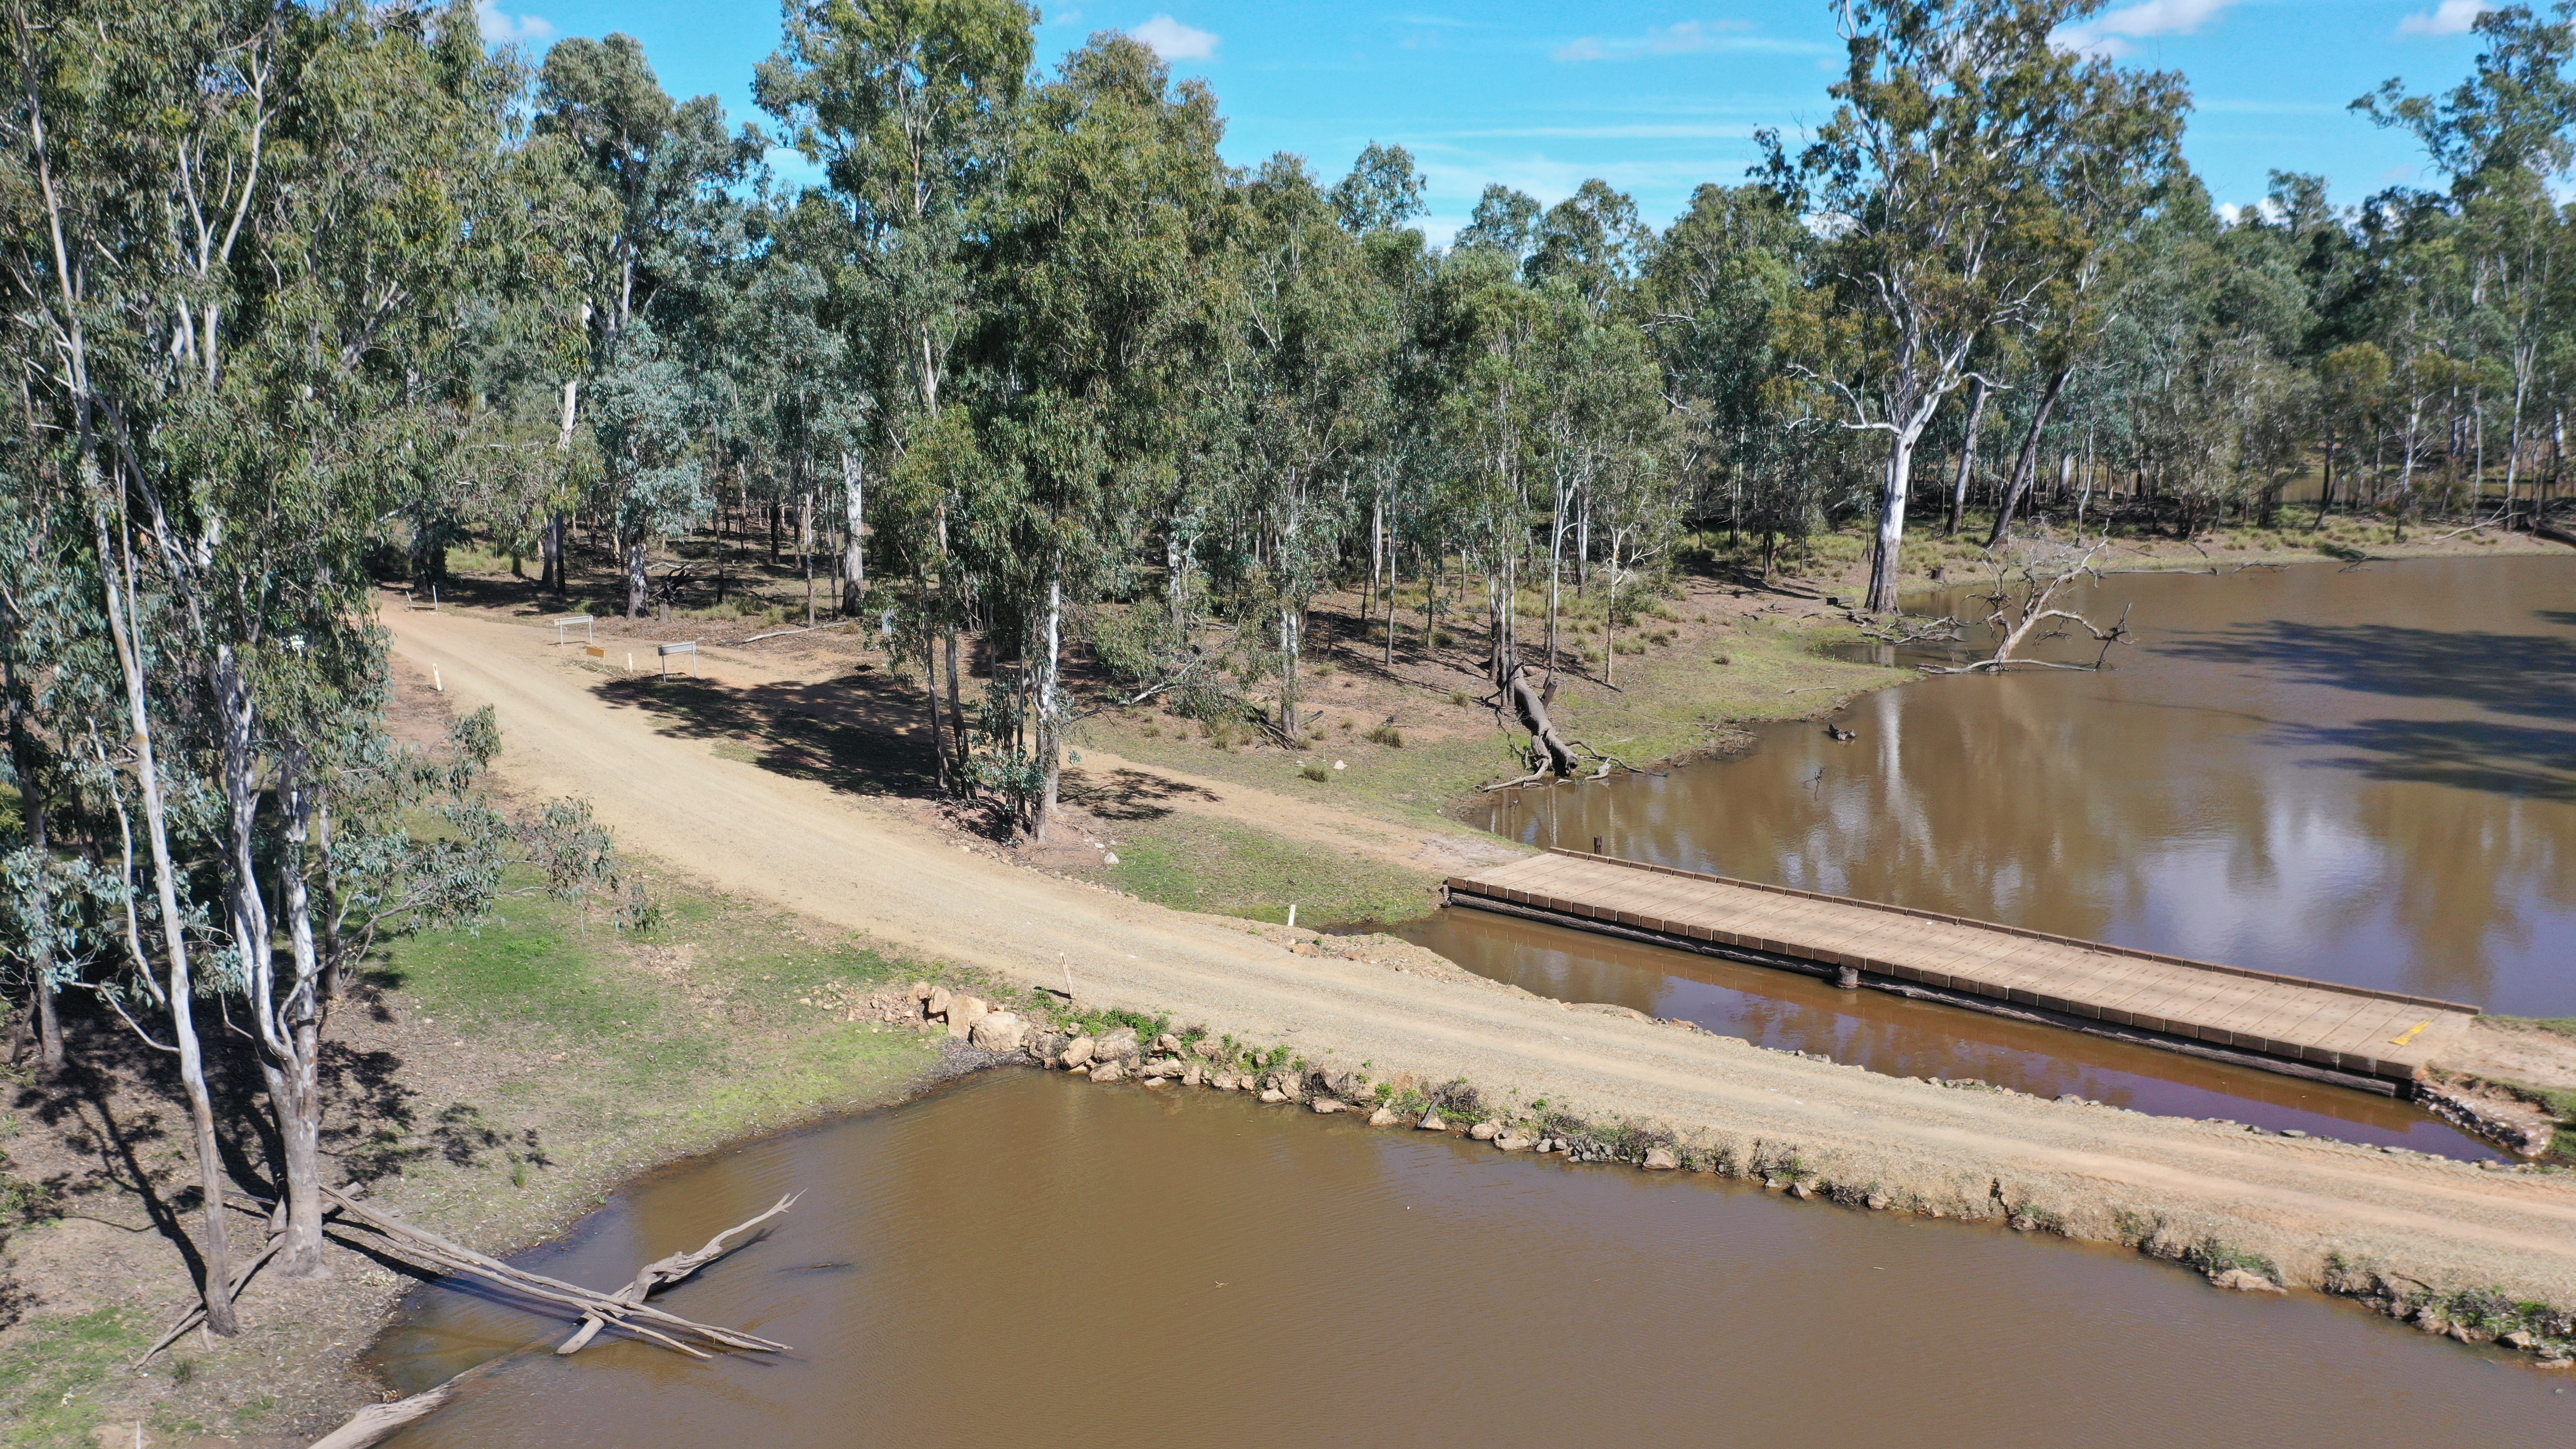
<path id="1" fill-rule="evenodd" d="M 997 634 L 1030 665 L 1038 838 L 1072 719 L 1066 624 L 1115 583 L 1144 505 L 1185 454 L 1226 204 L 1221 131 L 1203 83 L 1175 85 L 1118 34 L 1092 36 L 1015 111 L 976 338 L 994 379 L 981 451 L 1010 487 L 976 500 L 966 531 Z"/>

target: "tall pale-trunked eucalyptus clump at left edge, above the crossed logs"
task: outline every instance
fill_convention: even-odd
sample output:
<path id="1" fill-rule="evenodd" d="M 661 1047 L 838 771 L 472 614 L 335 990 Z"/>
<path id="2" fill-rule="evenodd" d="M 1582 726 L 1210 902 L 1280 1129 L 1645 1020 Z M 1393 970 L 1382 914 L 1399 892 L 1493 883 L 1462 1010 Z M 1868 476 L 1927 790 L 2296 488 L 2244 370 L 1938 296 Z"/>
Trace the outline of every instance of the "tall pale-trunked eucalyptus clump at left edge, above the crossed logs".
<path id="1" fill-rule="evenodd" d="M 131 990 L 180 1060 L 206 1312 L 232 1330 L 196 1000 L 247 1006 L 281 1271 L 322 1274 L 312 830 L 332 761 L 381 727 L 374 523 L 448 446 L 430 400 L 456 387 L 459 289 L 507 271 L 479 253 L 513 237 L 500 155 L 518 85 L 464 5 L 49 21 L 10 15 L 10 142 L 39 180 L 10 211 L 15 345 L 44 358 L 28 410 L 88 516 L 121 696 L 90 753 L 149 853 L 126 954 L 165 967 Z"/>

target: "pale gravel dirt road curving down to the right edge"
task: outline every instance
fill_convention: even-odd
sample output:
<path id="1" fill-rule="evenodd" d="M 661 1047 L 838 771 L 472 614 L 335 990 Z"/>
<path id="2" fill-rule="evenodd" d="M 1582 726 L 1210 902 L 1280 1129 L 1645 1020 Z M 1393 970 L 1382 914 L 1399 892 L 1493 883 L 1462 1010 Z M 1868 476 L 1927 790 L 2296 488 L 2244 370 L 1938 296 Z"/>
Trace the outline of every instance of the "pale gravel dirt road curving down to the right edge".
<path id="1" fill-rule="evenodd" d="M 2249 1137 L 2102 1106 L 1937 1088 L 1726 1036 L 1566 1008 L 1458 972 L 1301 957 L 1260 931 L 1051 879 L 829 784 L 716 755 L 603 691 L 580 650 L 464 614 L 389 614 L 459 706 L 495 704 L 502 768 L 587 797 L 623 843 L 891 946 L 1170 1011 L 1306 1057 L 1468 1078 L 1592 1119 L 1757 1142 L 1837 1183 L 1955 1214 L 2032 1209 L 2084 1238 L 2161 1220 L 2316 1281 L 2329 1253 L 2439 1287 L 2576 1302 L 2576 1183 Z M 724 678 L 724 665 L 716 665 Z M 744 681 L 747 683 L 747 681 Z"/>

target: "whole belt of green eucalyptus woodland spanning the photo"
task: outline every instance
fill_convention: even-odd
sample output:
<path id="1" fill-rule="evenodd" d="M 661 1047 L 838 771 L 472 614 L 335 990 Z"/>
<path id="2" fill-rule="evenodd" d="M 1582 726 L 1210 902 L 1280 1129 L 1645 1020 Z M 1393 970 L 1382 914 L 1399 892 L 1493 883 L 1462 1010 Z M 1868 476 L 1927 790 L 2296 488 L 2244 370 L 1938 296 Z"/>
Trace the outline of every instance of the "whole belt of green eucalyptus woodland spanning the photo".
<path id="1" fill-rule="evenodd" d="M 1909 529 L 2275 523 L 2308 477 L 2316 516 L 2545 508 L 2568 8 L 2357 101 L 2445 188 L 2277 175 L 2236 217 L 2177 75 L 2050 44 L 2094 10 L 1837 3 L 1832 119 L 1669 227 L 1492 186 L 1432 245 L 1401 147 L 1234 168 L 1203 83 L 1118 34 L 1038 75 L 1018 0 L 788 0 L 757 124 L 626 36 L 492 49 L 466 3 L 15 0 L 13 1021 L 57 1062 L 77 995 L 173 1055 L 216 1330 L 219 1111 L 265 1122 L 281 1263 L 322 1271 L 325 1024 L 376 933 L 518 882 L 636 910 L 580 804 L 477 794 L 487 717 L 386 727 L 376 590 L 469 539 L 564 598 L 608 562 L 641 616 L 724 588 L 675 541 L 786 534 L 809 608 L 907 670 L 943 789 L 1043 838 L 1069 657 L 1298 740 L 1327 593 L 1388 655 L 1484 632 L 1571 773 L 1525 660 L 1566 668 L 1564 596 L 1615 614 L 1692 529 L 1767 572 L 1875 523 L 1893 611 Z M 258 1060 L 229 1106 L 209 1013 Z"/>

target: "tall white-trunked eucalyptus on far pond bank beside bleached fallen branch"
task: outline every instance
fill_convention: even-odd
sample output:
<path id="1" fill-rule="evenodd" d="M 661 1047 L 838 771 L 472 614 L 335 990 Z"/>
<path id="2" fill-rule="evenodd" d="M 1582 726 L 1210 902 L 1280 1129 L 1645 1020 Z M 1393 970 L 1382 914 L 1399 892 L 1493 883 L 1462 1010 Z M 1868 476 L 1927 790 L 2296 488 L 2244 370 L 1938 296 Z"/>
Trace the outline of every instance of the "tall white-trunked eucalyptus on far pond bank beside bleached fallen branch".
<path id="1" fill-rule="evenodd" d="M 2138 88 L 2053 44 L 2102 0 L 1837 0 L 1850 52 L 1834 116 L 1762 175 L 1837 232 L 1837 278 L 1870 361 L 1834 379 L 1844 425 L 1886 438 L 1865 606 L 1896 608 L 1914 449 L 1968 358 L 2035 325 L 2069 273 L 2053 188 L 2069 162 L 2138 134 Z"/>

